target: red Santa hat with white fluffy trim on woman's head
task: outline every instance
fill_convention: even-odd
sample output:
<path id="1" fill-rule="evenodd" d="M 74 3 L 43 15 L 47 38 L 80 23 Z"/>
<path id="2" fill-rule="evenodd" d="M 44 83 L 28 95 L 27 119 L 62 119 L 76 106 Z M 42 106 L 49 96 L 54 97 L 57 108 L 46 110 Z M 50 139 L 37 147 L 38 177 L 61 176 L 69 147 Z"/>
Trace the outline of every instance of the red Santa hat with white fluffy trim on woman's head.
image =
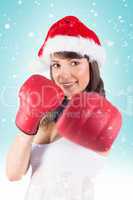
<path id="1" fill-rule="evenodd" d="M 96 33 L 84 25 L 75 16 L 66 16 L 55 22 L 49 29 L 44 43 L 38 52 L 38 64 L 34 71 L 47 71 L 49 76 L 50 54 L 60 51 L 72 51 L 88 55 L 101 66 L 105 61 L 105 51 Z"/>

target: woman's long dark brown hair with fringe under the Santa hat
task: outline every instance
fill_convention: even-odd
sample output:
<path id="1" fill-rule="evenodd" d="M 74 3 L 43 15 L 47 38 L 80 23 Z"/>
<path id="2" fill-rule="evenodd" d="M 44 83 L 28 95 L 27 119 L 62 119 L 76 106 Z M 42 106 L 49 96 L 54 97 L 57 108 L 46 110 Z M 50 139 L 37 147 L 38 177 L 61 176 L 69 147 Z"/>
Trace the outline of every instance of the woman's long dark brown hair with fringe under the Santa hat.
<path id="1" fill-rule="evenodd" d="M 87 91 L 87 92 L 94 91 L 105 97 L 104 83 L 100 76 L 98 63 L 95 60 L 91 61 L 87 55 L 82 56 L 76 52 L 70 52 L 70 51 L 69 52 L 68 51 L 55 52 L 54 55 L 62 59 L 86 58 L 88 60 L 89 67 L 90 67 L 90 81 L 84 91 Z M 51 76 L 51 79 L 53 80 L 51 66 L 50 66 L 50 76 Z M 65 105 L 67 104 L 67 97 L 65 97 L 63 104 Z M 51 122 L 56 122 L 56 120 L 58 119 L 62 111 L 63 109 L 59 108 L 56 111 L 48 113 L 47 116 L 44 117 L 44 119 L 41 121 L 40 124 L 48 126 L 48 124 L 50 124 Z"/>

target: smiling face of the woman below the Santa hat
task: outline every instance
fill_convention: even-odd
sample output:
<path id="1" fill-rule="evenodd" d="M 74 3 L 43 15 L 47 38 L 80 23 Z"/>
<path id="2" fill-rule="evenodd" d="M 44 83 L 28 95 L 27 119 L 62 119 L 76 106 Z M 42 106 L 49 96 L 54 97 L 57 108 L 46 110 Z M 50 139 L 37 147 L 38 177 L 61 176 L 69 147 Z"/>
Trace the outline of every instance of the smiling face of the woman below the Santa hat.
<path id="1" fill-rule="evenodd" d="M 90 81 L 89 62 L 87 58 L 63 58 L 52 54 L 51 74 L 55 83 L 70 99 L 87 87 Z"/>

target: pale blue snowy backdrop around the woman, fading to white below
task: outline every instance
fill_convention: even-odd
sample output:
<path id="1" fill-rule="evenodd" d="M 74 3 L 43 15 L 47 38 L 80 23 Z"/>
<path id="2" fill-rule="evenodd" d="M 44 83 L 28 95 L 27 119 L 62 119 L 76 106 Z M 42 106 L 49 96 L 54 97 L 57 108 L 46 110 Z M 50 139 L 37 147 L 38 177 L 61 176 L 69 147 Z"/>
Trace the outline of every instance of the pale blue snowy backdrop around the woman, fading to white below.
<path id="1" fill-rule="evenodd" d="M 30 75 L 28 65 L 37 56 L 49 26 L 65 15 L 76 15 L 97 33 L 106 49 L 107 60 L 101 68 L 106 96 L 123 115 L 123 126 L 113 145 L 108 167 L 132 173 L 132 9 L 131 0 L 0 2 L 0 168 L 18 131 L 14 123 L 17 92 Z"/>

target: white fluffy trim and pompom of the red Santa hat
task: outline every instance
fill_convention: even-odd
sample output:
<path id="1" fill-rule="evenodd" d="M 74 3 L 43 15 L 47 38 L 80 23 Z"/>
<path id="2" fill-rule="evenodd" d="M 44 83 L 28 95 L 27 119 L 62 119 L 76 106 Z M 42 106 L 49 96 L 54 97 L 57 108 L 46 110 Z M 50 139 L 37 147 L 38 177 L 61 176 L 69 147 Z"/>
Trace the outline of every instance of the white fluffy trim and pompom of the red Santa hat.
<path id="1" fill-rule="evenodd" d="M 96 44 L 93 40 L 83 38 L 81 36 L 55 36 L 49 38 L 46 42 L 42 56 L 37 63 L 30 68 L 33 72 L 43 73 L 45 71 L 47 77 L 50 77 L 50 54 L 59 51 L 73 51 L 81 55 L 88 55 L 90 60 L 96 60 L 99 67 L 105 62 L 105 50 L 101 45 Z M 34 68 L 34 69 L 32 69 Z"/>

